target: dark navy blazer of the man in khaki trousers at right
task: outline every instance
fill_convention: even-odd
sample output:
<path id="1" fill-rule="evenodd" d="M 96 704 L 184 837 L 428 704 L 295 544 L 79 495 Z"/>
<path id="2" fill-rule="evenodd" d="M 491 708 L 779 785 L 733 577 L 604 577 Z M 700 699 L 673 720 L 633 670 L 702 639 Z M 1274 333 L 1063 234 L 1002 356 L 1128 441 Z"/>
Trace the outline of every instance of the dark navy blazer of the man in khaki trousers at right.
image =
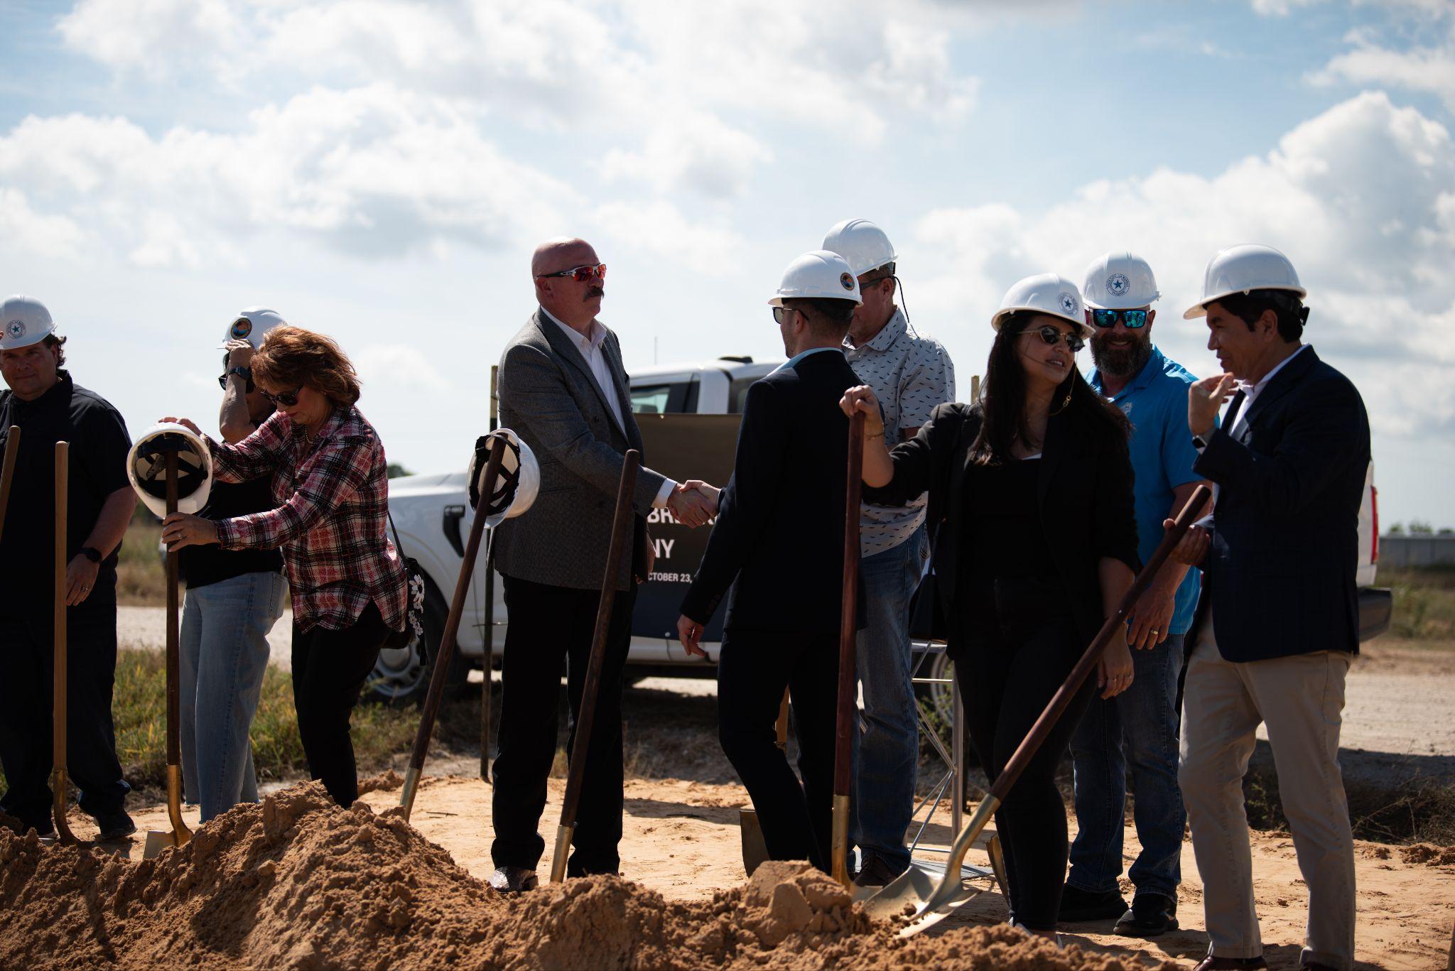
<path id="1" fill-rule="evenodd" d="M 1234 399 L 1240 409 L 1243 397 Z M 1218 483 L 1197 617 L 1228 661 L 1359 651 L 1359 505 L 1369 416 L 1359 390 L 1305 348 L 1253 399 L 1248 441 L 1208 438 L 1193 470 Z M 1196 627 L 1195 627 L 1196 629 Z"/>

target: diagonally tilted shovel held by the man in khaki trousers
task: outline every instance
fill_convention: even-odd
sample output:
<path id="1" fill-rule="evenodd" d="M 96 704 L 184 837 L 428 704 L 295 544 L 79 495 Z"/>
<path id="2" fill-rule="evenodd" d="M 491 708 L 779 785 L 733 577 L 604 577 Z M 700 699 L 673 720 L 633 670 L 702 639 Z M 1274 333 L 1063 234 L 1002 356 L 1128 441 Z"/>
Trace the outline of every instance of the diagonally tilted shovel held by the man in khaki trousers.
<path id="1" fill-rule="evenodd" d="M 966 889 L 963 881 L 960 879 L 960 865 L 965 862 L 965 855 L 969 852 L 970 844 L 975 837 L 979 836 L 981 830 L 991 821 L 995 815 L 995 809 L 1000 808 L 1001 802 L 1005 799 L 1005 793 L 1010 788 L 1016 785 L 1016 779 L 1026 769 L 1026 763 L 1036 754 L 1040 744 L 1046 740 L 1046 735 L 1061 719 L 1061 715 L 1071 705 L 1071 699 L 1075 696 L 1081 683 L 1087 680 L 1091 674 L 1091 668 L 1096 667 L 1097 661 L 1101 659 L 1101 652 L 1106 651 L 1106 645 L 1112 642 L 1117 626 L 1126 622 L 1126 614 L 1136 604 L 1136 600 L 1142 595 L 1142 591 L 1151 585 L 1157 572 L 1161 569 L 1167 556 L 1171 555 L 1173 549 L 1181 542 L 1181 537 L 1187 533 L 1193 520 L 1206 505 L 1211 496 L 1208 486 L 1197 486 L 1192 498 L 1187 499 L 1187 505 L 1183 507 L 1181 512 L 1177 514 L 1177 521 L 1173 524 L 1163 542 L 1157 546 L 1157 552 L 1152 553 L 1151 559 L 1147 560 L 1147 566 L 1142 572 L 1136 575 L 1132 581 L 1132 587 L 1122 597 L 1122 603 L 1117 604 L 1116 613 L 1106 619 L 1101 625 L 1101 630 L 1097 633 L 1096 639 L 1077 661 L 1077 665 L 1067 675 L 1061 689 L 1056 691 L 1051 703 L 1032 725 L 1030 732 L 1021 740 L 1020 747 L 1016 748 L 1016 754 L 1010 757 L 1005 763 L 1005 770 L 1000 773 L 995 779 L 995 785 L 991 786 L 985 799 L 975 808 L 975 815 L 970 821 L 960 830 L 960 834 L 954 839 L 954 846 L 950 847 L 950 859 L 944 868 L 944 876 L 940 878 L 938 884 L 917 866 L 911 866 L 908 871 L 896 876 L 893 881 L 885 885 L 873 897 L 864 900 L 864 910 L 872 916 L 882 920 L 893 920 L 906 914 L 906 908 L 912 910 L 914 919 L 901 932 L 901 938 L 908 938 L 917 935 L 925 927 L 930 927 L 952 913 L 962 907 L 972 895 L 973 891 Z"/>

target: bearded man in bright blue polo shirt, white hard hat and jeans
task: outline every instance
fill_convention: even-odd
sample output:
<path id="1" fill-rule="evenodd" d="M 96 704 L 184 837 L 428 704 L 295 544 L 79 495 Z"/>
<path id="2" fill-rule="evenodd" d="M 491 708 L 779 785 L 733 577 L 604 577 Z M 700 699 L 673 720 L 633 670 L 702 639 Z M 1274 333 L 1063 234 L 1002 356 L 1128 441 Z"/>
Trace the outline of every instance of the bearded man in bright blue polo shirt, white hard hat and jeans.
<path id="1" fill-rule="evenodd" d="M 1144 560 L 1161 540 L 1163 520 L 1176 515 L 1200 482 L 1192 470 L 1197 451 L 1187 431 L 1187 387 L 1196 377 L 1152 346 L 1157 312 L 1151 303 L 1158 296 L 1151 266 L 1132 253 L 1106 253 L 1087 268 L 1083 298 L 1096 326 L 1090 383 L 1132 422 Z M 1061 898 L 1062 922 L 1119 917 L 1116 933 L 1144 938 L 1177 927 L 1187 818 L 1177 786 L 1177 674 L 1197 588 L 1197 571 L 1173 563 L 1163 569 L 1128 622 L 1132 687 L 1096 699 L 1071 737 L 1078 831 Z M 1129 871 L 1136 885 L 1131 908 L 1117 888 L 1128 770 L 1142 843 Z"/>

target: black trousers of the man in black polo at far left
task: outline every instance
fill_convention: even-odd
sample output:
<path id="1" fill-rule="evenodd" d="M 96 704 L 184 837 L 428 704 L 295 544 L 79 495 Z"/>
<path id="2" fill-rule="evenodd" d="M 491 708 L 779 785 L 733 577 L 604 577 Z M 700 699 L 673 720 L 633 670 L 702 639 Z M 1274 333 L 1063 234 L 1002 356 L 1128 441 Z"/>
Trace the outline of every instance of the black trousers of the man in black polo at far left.
<path id="1" fill-rule="evenodd" d="M 116 678 L 116 606 L 65 614 L 65 769 L 93 817 L 124 811 L 111 693 Z M 26 827 L 51 828 L 51 616 L 0 619 L 0 809 Z"/>

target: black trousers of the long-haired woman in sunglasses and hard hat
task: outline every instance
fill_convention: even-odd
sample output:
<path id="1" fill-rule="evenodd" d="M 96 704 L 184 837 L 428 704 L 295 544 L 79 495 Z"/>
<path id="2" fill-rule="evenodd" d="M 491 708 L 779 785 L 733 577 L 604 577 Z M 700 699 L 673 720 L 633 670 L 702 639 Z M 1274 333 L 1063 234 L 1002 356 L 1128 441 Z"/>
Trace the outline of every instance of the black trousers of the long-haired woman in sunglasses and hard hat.
<path id="1" fill-rule="evenodd" d="M 1087 645 L 1069 613 L 1061 610 L 1064 597 L 1056 588 L 997 581 L 975 601 L 976 609 L 966 617 L 970 636 L 956 658 L 954 678 L 965 699 L 970 745 L 995 782 Z M 1032 930 L 1056 927 L 1069 852 L 1056 767 L 1094 691 L 1091 677 L 995 814 L 1011 920 Z"/>

